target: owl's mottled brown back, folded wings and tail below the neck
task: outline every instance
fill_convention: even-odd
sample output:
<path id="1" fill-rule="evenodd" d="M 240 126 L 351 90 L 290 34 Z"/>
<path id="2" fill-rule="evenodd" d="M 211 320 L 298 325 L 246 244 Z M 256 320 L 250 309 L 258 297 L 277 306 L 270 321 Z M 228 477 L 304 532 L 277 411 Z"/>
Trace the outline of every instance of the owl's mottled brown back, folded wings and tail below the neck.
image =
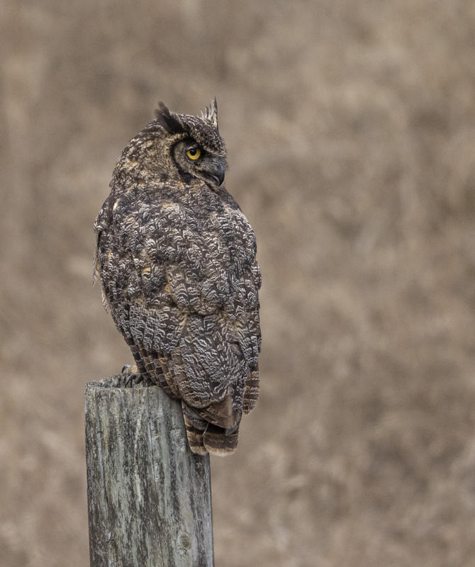
<path id="1" fill-rule="evenodd" d="M 252 230 L 239 210 L 221 212 L 238 217 L 228 233 L 222 218 L 203 220 L 174 202 L 142 200 L 130 210 L 116 206 L 113 230 L 99 239 L 113 318 L 140 371 L 183 400 L 189 438 L 229 451 L 259 385 Z"/>

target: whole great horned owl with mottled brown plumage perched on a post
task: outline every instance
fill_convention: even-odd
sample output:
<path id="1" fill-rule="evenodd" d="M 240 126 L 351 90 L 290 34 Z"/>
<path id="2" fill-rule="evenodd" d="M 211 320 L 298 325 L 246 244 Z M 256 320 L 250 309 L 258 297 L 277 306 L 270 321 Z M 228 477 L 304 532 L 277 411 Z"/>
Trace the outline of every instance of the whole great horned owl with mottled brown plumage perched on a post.
<path id="1" fill-rule="evenodd" d="M 226 191 L 216 99 L 130 141 L 94 224 L 96 273 L 140 379 L 181 400 L 191 450 L 235 450 L 259 394 L 261 284 L 250 223 Z"/>

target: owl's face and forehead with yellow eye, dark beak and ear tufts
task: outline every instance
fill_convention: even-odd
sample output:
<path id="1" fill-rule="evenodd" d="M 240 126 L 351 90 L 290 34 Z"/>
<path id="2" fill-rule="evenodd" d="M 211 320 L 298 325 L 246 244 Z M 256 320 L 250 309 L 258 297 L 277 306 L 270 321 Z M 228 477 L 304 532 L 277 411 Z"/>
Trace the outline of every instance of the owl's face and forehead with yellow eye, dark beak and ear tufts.
<path id="1" fill-rule="evenodd" d="M 216 99 L 201 116 L 170 112 L 162 102 L 155 114 L 170 138 L 170 153 L 181 176 L 198 178 L 215 187 L 223 184 L 226 149 L 218 130 Z"/>

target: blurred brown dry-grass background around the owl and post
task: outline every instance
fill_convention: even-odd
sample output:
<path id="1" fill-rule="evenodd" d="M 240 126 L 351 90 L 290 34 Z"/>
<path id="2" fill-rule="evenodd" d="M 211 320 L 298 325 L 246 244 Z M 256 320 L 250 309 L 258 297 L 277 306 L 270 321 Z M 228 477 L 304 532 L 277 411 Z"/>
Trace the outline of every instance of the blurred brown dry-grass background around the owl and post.
<path id="1" fill-rule="evenodd" d="M 475 565 L 472 0 L 3 0 L 0 564 L 89 565 L 84 383 L 130 361 L 92 223 L 159 100 L 218 97 L 262 398 L 217 567 Z"/>

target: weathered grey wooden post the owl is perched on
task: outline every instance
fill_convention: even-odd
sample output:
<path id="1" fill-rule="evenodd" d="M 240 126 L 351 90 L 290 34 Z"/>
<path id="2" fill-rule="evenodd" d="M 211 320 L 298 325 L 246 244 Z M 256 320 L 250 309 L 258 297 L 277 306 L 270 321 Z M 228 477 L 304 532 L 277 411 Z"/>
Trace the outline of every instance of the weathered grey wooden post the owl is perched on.
<path id="1" fill-rule="evenodd" d="M 190 451 L 179 401 L 122 381 L 86 386 L 91 567 L 212 567 L 209 456 Z"/>

